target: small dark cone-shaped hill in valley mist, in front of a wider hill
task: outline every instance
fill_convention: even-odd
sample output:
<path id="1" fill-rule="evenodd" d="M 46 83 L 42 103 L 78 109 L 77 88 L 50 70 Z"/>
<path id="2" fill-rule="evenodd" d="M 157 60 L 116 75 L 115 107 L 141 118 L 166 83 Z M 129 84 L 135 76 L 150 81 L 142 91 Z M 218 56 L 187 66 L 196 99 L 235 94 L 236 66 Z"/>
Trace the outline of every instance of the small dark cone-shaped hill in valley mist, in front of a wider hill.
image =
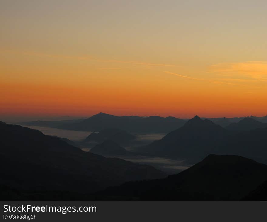
<path id="1" fill-rule="evenodd" d="M 97 144 L 92 149 L 90 149 L 90 152 L 103 156 L 132 155 L 132 152 L 127 151 L 112 140 L 106 140 L 101 144 Z"/>

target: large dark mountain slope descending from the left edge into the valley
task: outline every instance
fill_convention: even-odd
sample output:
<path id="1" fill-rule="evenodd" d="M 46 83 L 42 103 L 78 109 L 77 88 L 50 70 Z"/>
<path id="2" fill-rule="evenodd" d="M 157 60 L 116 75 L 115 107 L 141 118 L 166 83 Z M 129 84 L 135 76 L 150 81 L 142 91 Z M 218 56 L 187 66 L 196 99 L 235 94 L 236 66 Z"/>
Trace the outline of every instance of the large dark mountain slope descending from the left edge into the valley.
<path id="1" fill-rule="evenodd" d="M 91 193 L 130 180 L 162 178 L 151 166 L 84 152 L 65 141 L 0 123 L 1 184 L 28 191 Z"/>

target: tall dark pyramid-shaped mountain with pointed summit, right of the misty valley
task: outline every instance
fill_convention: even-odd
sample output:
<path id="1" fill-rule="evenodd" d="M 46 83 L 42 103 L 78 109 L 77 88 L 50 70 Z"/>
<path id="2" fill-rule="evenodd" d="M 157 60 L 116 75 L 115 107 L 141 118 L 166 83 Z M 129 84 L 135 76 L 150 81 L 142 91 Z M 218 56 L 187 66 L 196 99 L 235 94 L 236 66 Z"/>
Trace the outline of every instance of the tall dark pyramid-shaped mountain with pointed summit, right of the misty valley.
<path id="1" fill-rule="evenodd" d="M 210 153 L 217 153 L 218 141 L 227 136 L 228 131 L 221 126 L 195 116 L 183 127 L 139 150 L 159 156 L 202 159 Z"/>

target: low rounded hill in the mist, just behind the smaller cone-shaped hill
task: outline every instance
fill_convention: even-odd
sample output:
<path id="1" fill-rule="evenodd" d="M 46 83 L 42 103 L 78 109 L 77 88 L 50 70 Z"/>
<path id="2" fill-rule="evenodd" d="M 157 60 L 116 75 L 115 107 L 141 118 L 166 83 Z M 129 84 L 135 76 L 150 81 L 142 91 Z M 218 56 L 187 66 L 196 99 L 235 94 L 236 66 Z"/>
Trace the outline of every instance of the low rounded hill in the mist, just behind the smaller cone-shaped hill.
<path id="1" fill-rule="evenodd" d="M 134 140 L 136 136 L 127 133 L 124 130 L 109 128 L 105 130 L 101 130 L 99 133 L 91 133 L 88 137 L 84 139 L 86 142 L 95 141 L 101 143 L 105 140 L 112 140 L 116 143 L 127 143 L 131 140 Z"/>

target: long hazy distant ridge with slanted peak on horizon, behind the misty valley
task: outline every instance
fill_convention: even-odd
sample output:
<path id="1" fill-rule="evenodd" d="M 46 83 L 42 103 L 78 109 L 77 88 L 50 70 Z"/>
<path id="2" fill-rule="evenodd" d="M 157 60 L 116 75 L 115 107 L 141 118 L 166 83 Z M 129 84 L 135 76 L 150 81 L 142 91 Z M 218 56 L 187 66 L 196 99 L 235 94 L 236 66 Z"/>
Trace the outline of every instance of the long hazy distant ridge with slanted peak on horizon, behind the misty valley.
<path id="1" fill-rule="evenodd" d="M 69 121 L 69 120 L 68 120 Z M 107 128 L 119 128 L 128 132 L 138 133 L 167 133 L 175 130 L 185 123 L 184 120 L 175 117 L 160 116 L 113 116 L 106 113 L 98 113 L 85 120 L 64 121 L 32 121 L 22 125 L 46 126 L 65 130 L 80 130 L 99 132 Z"/>

